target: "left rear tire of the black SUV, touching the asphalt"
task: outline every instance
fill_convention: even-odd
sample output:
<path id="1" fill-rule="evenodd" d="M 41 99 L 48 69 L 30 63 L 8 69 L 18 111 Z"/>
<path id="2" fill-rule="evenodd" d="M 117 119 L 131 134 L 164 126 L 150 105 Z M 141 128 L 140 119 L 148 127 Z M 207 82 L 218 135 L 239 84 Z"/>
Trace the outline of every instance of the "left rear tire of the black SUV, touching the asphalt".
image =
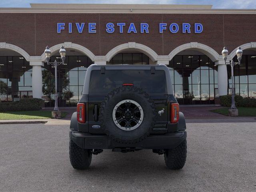
<path id="1" fill-rule="evenodd" d="M 69 142 L 70 163 L 74 169 L 87 169 L 92 161 L 92 153 L 87 149 L 82 149 L 71 139 Z"/>

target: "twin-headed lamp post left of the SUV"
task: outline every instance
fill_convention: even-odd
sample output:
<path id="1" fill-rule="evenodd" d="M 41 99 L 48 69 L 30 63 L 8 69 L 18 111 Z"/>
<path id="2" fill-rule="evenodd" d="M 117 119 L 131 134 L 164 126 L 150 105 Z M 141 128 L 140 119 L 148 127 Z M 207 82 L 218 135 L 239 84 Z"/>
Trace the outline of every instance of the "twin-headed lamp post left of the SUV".
<path id="1" fill-rule="evenodd" d="M 50 62 L 51 50 L 48 46 L 44 50 L 44 54 L 46 56 L 47 64 L 52 65 L 55 68 L 55 96 L 54 96 L 55 104 L 54 104 L 54 112 L 56 112 L 56 111 L 59 111 L 59 108 L 58 108 L 58 93 L 57 93 L 57 66 L 60 65 L 60 64 L 64 64 L 65 56 L 66 56 L 66 50 L 64 49 L 64 46 L 61 46 L 60 56 L 61 56 L 62 62 L 57 62 L 56 60 L 54 62 Z M 53 115 L 53 113 L 52 113 L 52 115 Z M 60 118 L 60 116 L 58 116 L 58 118 Z"/>

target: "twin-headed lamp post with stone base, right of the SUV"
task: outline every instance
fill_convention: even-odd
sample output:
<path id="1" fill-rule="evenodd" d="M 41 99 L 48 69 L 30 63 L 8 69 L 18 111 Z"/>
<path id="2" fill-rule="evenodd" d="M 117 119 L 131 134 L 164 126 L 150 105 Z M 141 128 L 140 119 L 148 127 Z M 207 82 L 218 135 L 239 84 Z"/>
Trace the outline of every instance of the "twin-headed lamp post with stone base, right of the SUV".
<path id="1" fill-rule="evenodd" d="M 236 56 L 238 59 L 238 62 L 234 62 L 233 60 L 227 62 L 227 57 L 228 57 L 228 50 L 226 47 L 223 48 L 222 50 L 222 57 L 225 62 L 225 64 L 228 64 L 231 66 L 231 77 L 232 77 L 232 95 L 231 95 L 231 107 L 229 109 L 229 114 L 230 116 L 238 116 L 238 109 L 236 108 L 235 105 L 235 91 L 234 91 L 234 66 L 235 65 L 240 65 L 241 59 L 242 59 L 242 54 L 243 51 L 240 47 L 236 50 Z"/>

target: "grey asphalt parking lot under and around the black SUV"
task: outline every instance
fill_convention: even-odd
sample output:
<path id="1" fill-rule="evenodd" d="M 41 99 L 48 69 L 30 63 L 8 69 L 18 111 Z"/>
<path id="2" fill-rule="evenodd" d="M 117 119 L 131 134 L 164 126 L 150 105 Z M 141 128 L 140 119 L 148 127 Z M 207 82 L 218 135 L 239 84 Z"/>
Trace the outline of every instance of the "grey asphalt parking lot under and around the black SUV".
<path id="1" fill-rule="evenodd" d="M 0 125 L 0 191 L 256 191 L 256 122 L 188 123 L 182 170 L 151 150 L 104 150 L 89 170 L 72 168 L 68 125 Z"/>

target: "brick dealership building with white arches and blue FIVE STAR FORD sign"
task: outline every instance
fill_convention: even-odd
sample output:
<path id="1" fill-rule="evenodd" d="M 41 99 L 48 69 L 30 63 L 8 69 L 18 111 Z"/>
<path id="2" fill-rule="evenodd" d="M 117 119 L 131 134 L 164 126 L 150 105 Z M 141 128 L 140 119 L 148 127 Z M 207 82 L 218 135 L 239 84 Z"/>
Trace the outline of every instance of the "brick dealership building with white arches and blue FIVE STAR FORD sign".
<path id="1" fill-rule="evenodd" d="M 210 5 L 30 4 L 0 8 L 0 102 L 54 95 L 54 66 L 46 64 L 50 47 L 57 68 L 60 106 L 81 97 L 90 64 L 165 64 L 180 104 L 214 104 L 230 93 L 234 67 L 235 92 L 256 97 L 256 10 L 212 9 Z M 53 81 L 50 81 L 53 79 Z M 49 82 L 52 82 L 49 84 Z M 47 92 L 48 90 L 48 92 Z M 68 94 L 71 97 L 65 97 Z M 65 102 L 61 102 L 65 100 Z"/>

